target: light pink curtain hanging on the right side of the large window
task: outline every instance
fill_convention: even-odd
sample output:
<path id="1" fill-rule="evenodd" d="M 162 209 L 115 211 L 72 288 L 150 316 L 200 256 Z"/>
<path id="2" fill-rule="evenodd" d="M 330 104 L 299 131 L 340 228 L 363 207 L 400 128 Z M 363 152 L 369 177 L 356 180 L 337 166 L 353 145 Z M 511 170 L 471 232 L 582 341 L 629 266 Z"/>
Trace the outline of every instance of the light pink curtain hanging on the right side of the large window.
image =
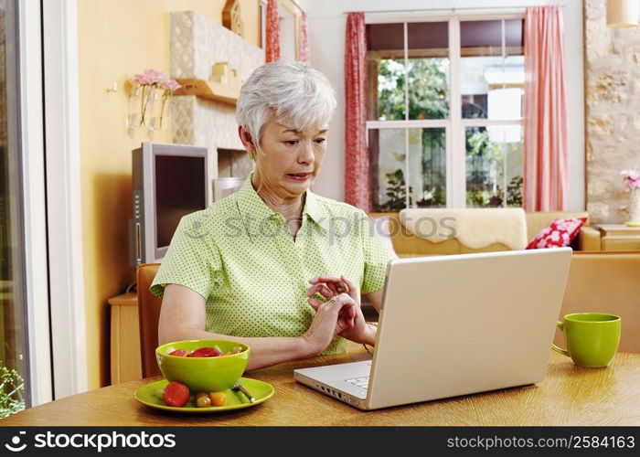
<path id="1" fill-rule="evenodd" d="M 567 207 L 569 146 L 560 6 L 527 8 L 525 18 L 525 177 L 527 211 Z"/>

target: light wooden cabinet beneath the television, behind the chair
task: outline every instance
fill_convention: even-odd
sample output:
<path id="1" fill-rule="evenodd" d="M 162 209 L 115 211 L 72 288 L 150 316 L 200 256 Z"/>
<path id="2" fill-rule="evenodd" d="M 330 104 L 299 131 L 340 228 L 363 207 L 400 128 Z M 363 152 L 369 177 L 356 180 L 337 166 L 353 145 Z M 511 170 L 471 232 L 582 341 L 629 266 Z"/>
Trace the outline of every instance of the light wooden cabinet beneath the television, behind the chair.
<path id="1" fill-rule="evenodd" d="M 112 384 L 143 377 L 140 358 L 138 296 L 135 292 L 110 298 Z"/>

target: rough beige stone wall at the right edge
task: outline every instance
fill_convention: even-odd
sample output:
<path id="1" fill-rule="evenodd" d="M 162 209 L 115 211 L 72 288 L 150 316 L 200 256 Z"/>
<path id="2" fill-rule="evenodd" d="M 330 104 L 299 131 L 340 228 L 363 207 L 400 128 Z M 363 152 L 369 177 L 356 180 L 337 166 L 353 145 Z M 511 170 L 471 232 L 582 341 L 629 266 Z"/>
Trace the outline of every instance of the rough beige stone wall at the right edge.
<path id="1" fill-rule="evenodd" d="M 620 223 L 629 201 L 620 171 L 640 169 L 640 27 L 606 27 L 606 0 L 587 0 L 584 12 L 587 209 Z"/>

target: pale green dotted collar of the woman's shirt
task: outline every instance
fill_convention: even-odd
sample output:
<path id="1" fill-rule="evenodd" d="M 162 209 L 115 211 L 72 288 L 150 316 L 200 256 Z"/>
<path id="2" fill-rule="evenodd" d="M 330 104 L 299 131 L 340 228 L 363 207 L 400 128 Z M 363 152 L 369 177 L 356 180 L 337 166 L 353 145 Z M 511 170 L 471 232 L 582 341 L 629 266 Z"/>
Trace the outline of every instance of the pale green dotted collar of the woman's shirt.
<path id="1" fill-rule="evenodd" d="M 264 203 L 255 191 L 251 184 L 252 176 L 253 172 L 238 190 L 238 209 L 240 210 L 240 217 L 245 221 L 245 224 L 250 218 L 255 223 L 265 218 L 274 218 L 280 215 L 280 213 L 273 211 L 271 207 Z M 304 197 L 303 217 L 310 218 L 320 228 L 329 229 L 330 221 L 327 218 L 325 207 L 319 201 L 319 197 L 310 190 L 306 191 L 306 196 Z M 251 230 L 249 232 L 251 233 Z"/>

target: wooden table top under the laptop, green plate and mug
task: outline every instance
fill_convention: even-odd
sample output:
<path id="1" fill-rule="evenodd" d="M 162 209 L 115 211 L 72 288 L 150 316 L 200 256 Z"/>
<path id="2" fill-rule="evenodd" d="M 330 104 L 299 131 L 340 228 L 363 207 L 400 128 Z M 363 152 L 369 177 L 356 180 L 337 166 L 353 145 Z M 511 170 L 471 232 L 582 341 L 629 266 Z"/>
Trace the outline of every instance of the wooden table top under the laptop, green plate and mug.
<path id="1" fill-rule="evenodd" d="M 351 408 L 293 380 L 293 368 L 366 358 L 364 352 L 322 356 L 248 373 L 271 383 L 275 395 L 222 414 L 174 414 L 141 405 L 133 392 L 158 379 L 153 377 L 27 409 L 0 425 L 640 425 L 638 354 L 618 354 L 607 368 L 581 368 L 551 353 L 539 385 L 376 411 Z"/>

